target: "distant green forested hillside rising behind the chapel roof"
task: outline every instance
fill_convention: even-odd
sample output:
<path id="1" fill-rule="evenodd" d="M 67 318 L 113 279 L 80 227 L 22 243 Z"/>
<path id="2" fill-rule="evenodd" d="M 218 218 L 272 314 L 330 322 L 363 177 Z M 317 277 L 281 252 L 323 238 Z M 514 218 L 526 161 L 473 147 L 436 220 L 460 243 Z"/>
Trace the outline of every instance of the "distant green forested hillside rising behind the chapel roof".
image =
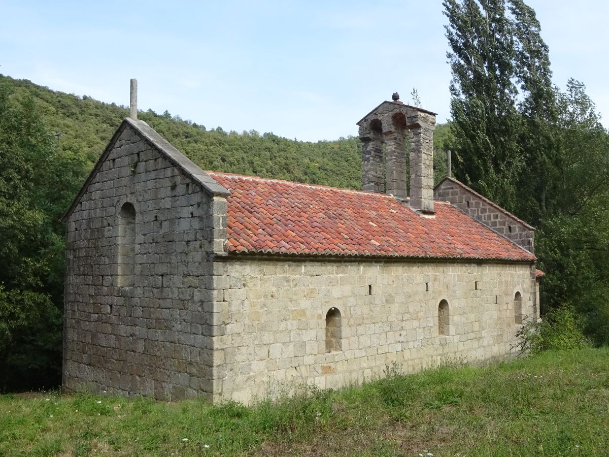
<path id="1" fill-rule="evenodd" d="M 0 84 L 10 87 L 14 97 L 32 96 L 41 119 L 57 138 L 57 147 L 93 164 L 104 151 L 128 108 L 107 104 L 88 96 L 49 90 L 27 80 L 0 74 Z M 371 107 L 372 108 L 372 107 Z M 354 122 L 365 113 L 353 113 Z M 222 127 L 185 121 L 168 112 L 138 113 L 166 140 L 204 170 L 241 173 L 297 182 L 346 188 L 361 188 L 361 143 L 354 137 L 336 141 L 295 141 L 273 133 L 226 132 Z M 437 144 L 448 134 L 448 125 L 438 125 Z M 445 155 L 438 147 L 437 178 L 443 177 Z"/>

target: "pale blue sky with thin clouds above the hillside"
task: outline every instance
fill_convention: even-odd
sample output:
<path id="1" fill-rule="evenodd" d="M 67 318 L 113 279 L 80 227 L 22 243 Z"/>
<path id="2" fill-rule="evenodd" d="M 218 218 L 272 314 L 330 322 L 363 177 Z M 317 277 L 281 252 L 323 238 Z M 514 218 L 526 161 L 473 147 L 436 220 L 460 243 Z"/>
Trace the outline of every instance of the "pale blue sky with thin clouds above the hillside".
<path id="1" fill-rule="evenodd" d="M 609 126 L 609 2 L 528 0 L 553 81 L 585 83 Z M 449 113 L 446 16 L 437 1 L 0 0 L 0 73 L 208 129 L 305 141 L 357 135 L 398 91 Z"/>

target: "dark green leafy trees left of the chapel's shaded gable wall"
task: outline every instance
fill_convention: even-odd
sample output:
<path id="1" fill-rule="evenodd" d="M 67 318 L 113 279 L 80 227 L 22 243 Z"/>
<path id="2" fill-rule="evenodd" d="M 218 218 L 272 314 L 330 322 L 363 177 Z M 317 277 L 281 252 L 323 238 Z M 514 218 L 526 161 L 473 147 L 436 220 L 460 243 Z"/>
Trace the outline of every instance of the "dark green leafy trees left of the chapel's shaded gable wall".
<path id="1" fill-rule="evenodd" d="M 0 390 L 56 385 L 60 376 L 59 218 L 82 161 L 56 142 L 33 98 L 0 84 Z"/>

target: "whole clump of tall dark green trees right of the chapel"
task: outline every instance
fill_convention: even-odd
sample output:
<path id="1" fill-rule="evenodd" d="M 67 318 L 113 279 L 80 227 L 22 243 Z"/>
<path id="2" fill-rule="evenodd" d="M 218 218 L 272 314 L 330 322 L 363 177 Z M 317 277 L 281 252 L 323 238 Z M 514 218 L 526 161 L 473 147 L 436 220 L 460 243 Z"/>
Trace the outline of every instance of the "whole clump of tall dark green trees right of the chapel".
<path id="1" fill-rule="evenodd" d="M 551 82 L 523 0 L 444 0 L 456 177 L 538 228 L 542 305 L 573 303 L 609 342 L 609 135 L 582 82 Z"/>

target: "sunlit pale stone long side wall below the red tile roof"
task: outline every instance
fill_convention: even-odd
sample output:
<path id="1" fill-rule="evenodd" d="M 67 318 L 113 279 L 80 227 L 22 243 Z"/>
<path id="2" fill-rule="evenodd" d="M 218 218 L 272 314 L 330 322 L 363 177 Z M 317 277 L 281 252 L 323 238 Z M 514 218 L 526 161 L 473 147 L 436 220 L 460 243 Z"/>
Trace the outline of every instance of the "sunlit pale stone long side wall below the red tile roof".
<path id="1" fill-rule="evenodd" d="M 514 297 L 536 311 L 535 267 L 523 263 L 227 260 L 214 264 L 214 399 L 249 402 L 299 383 L 338 388 L 449 360 L 513 353 Z M 449 303 L 448 335 L 438 305 Z M 326 353 L 325 317 L 336 307 L 342 350 Z M 283 388 L 282 388 L 283 386 Z"/>

